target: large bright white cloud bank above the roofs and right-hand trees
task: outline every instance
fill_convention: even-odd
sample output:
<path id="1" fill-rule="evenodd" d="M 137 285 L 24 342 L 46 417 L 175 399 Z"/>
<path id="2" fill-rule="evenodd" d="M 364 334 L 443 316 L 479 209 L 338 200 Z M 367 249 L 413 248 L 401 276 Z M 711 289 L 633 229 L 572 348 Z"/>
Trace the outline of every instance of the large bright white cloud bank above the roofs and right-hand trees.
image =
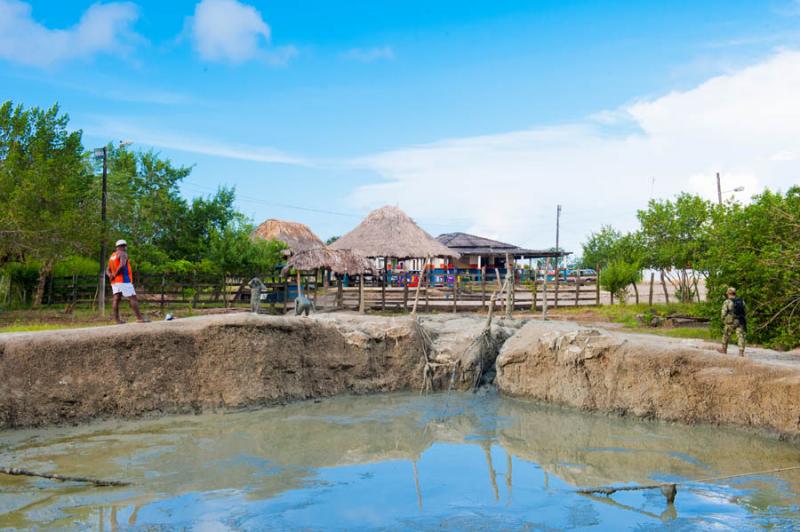
<path id="1" fill-rule="evenodd" d="M 598 113 L 582 123 L 443 140 L 361 158 L 383 181 L 354 190 L 359 209 L 390 203 L 419 218 L 521 245 L 549 247 L 601 224 L 635 227 L 651 194 L 716 199 L 744 186 L 800 184 L 800 52 L 714 77 L 694 89 Z M 730 196 L 730 194 L 726 194 Z M 435 232 L 435 231 L 434 231 Z"/>

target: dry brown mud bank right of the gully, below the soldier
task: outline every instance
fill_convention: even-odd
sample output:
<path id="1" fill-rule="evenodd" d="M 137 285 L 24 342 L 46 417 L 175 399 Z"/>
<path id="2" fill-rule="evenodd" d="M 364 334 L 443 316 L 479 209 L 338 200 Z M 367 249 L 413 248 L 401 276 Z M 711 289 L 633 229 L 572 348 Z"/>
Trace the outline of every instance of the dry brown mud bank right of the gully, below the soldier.
<path id="1" fill-rule="evenodd" d="M 503 346 L 497 385 L 587 410 L 800 441 L 800 365 L 721 355 L 693 342 L 531 321 Z"/>

